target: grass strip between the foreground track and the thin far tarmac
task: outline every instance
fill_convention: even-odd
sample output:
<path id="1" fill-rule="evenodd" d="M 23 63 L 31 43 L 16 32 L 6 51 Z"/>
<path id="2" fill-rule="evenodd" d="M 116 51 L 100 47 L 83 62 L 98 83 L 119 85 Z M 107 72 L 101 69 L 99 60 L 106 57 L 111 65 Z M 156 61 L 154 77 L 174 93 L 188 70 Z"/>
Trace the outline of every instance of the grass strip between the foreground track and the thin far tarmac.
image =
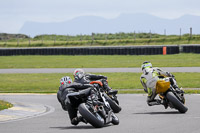
<path id="1" fill-rule="evenodd" d="M 97 73 L 100 74 L 100 73 Z M 108 77 L 109 86 L 120 93 L 141 93 L 141 73 L 103 73 Z M 199 73 L 173 73 L 178 85 L 183 88 L 200 88 Z M 66 74 L 0 74 L 0 93 L 55 93 L 60 78 Z M 199 93 L 200 91 L 188 91 Z"/>

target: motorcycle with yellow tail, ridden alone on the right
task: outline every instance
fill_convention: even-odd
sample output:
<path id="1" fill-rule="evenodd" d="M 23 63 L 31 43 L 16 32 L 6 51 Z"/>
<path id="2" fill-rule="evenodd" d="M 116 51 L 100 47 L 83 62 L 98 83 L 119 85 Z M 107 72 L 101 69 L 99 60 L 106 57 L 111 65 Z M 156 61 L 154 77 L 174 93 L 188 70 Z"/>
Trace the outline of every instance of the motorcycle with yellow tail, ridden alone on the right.
<path id="1" fill-rule="evenodd" d="M 175 80 L 175 79 L 173 79 Z M 162 81 L 161 81 L 162 82 Z M 177 109 L 180 113 L 187 112 L 188 108 L 185 106 L 184 91 L 182 89 L 175 89 L 170 83 L 170 87 L 163 86 L 162 83 L 157 82 L 156 93 L 159 98 L 165 103 L 165 106 Z M 166 85 L 167 86 L 167 85 Z"/>

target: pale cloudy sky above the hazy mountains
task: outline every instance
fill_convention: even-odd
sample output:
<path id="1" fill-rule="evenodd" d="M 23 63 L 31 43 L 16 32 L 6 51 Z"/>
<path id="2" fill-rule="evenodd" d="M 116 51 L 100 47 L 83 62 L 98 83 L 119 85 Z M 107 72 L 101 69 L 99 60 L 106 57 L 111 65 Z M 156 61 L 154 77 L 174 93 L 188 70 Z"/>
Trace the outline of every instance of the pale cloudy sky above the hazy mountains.
<path id="1" fill-rule="evenodd" d="M 0 32 L 18 33 L 26 21 L 61 22 L 78 16 L 115 18 L 148 13 L 174 19 L 200 16 L 200 0 L 0 0 Z"/>

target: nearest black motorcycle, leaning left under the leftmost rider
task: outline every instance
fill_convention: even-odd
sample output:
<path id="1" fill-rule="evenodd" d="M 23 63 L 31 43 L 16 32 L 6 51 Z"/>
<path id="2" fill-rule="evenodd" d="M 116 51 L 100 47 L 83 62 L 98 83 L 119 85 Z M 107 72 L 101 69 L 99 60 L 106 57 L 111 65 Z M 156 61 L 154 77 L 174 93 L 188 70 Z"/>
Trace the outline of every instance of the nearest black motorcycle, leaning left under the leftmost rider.
<path id="1" fill-rule="evenodd" d="M 88 88 L 70 93 L 67 95 L 67 101 L 77 108 L 80 115 L 95 128 L 101 128 L 109 123 L 119 124 L 119 119 L 112 111 L 104 94 L 97 92 L 96 89 Z"/>

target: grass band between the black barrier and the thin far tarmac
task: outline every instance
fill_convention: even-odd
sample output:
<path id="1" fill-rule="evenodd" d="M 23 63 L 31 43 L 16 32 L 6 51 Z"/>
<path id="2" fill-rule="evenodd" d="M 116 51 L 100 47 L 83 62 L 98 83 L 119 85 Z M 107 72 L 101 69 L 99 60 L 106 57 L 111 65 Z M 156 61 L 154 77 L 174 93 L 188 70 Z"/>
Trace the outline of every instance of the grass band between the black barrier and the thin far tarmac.
<path id="1" fill-rule="evenodd" d="M 140 67 L 144 61 L 156 67 L 198 67 L 200 54 L 1 56 L 0 68 L 128 68 Z"/>

